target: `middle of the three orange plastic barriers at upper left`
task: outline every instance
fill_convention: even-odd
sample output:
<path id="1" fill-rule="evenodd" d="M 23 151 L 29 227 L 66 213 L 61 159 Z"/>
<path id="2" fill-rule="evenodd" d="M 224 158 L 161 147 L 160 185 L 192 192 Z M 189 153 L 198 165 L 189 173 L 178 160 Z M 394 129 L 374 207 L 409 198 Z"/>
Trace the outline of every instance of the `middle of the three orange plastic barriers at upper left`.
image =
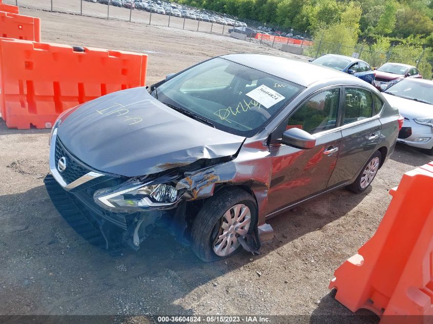
<path id="1" fill-rule="evenodd" d="M 40 19 L 0 11 L 0 37 L 40 41 Z"/>

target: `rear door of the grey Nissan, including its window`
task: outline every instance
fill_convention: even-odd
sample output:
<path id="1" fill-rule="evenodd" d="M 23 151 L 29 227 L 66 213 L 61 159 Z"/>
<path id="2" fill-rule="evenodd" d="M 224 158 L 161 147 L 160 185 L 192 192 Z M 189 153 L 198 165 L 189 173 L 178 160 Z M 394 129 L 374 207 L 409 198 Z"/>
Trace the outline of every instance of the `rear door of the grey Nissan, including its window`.
<path id="1" fill-rule="evenodd" d="M 340 155 L 328 188 L 337 186 L 358 175 L 381 135 L 379 115 L 374 110 L 372 93 L 363 87 L 344 87 L 342 141 Z"/>

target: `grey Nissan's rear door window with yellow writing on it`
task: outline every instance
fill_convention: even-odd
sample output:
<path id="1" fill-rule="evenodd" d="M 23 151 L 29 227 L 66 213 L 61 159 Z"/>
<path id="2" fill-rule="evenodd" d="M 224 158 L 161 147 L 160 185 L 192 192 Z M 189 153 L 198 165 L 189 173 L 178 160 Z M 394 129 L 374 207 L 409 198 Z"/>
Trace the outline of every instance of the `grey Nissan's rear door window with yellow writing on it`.
<path id="1" fill-rule="evenodd" d="M 346 125 L 372 116 L 372 94 L 361 88 L 346 88 L 343 124 Z"/>

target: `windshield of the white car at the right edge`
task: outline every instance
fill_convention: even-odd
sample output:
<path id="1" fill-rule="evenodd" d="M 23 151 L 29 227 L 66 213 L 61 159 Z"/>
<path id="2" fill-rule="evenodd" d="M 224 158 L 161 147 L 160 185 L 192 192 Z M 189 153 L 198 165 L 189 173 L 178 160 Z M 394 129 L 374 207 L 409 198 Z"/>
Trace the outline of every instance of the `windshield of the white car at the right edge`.
<path id="1" fill-rule="evenodd" d="M 386 89 L 385 93 L 433 104 L 433 84 L 404 79 Z"/>

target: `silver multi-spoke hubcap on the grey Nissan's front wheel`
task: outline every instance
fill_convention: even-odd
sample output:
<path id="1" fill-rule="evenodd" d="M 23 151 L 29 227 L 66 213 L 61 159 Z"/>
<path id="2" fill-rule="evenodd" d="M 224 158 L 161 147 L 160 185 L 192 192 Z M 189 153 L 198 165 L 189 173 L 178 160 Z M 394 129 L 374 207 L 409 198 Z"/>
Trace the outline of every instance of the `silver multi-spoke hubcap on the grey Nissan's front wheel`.
<path id="1" fill-rule="evenodd" d="M 238 237 L 248 233 L 250 224 L 250 208 L 244 204 L 230 207 L 220 220 L 218 234 L 214 241 L 214 252 L 219 256 L 233 253 L 240 245 Z"/>

